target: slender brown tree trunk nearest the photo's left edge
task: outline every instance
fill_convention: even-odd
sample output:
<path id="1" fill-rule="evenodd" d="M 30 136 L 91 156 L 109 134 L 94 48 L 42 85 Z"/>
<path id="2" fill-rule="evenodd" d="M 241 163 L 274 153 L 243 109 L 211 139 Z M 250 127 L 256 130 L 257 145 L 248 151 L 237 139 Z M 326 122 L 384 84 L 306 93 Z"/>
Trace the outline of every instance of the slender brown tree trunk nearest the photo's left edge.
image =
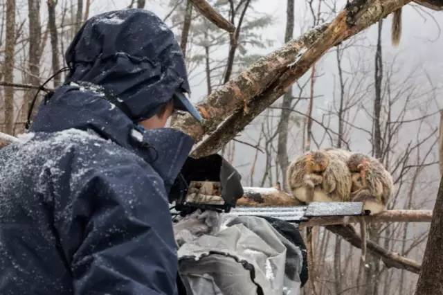
<path id="1" fill-rule="evenodd" d="M 14 81 L 15 0 L 6 0 L 6 44 L 3 75 L 5 82 Z M 5 88 L 5 132 L 14 132 L 14 88 Z"/>

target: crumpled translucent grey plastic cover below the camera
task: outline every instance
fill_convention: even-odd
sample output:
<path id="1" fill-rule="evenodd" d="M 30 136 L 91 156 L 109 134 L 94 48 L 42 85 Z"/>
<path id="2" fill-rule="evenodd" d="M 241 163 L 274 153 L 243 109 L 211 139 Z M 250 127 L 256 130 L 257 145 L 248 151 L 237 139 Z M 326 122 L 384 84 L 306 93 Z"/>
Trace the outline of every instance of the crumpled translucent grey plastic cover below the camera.
<path id="1" fill-rule="evenodd" d="M 193 294 L 300 294 L 300 249 L 260 217 L 194 213 L 174 233 Z"/>

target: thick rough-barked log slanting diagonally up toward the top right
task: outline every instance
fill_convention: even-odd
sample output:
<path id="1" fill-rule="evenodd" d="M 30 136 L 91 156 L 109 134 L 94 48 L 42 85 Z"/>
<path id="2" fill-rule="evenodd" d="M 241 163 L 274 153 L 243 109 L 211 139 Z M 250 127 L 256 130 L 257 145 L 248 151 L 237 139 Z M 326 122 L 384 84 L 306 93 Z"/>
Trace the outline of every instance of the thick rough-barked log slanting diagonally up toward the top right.
<path id="1" fill-rule="evenodd" d="M 195 156 L 216 152 L 282 96 L 329 48 L 408 2 L 410 0 L 353 1 L 331 24 L 314 28 L 300 39 L 287 43 L 214 91 L 199 104 L 206 118 L 203 126 L 185 115 L 175 121 L 174 127 L 197 141 L 204 134 L 210 134 L 197 146 Z"/>

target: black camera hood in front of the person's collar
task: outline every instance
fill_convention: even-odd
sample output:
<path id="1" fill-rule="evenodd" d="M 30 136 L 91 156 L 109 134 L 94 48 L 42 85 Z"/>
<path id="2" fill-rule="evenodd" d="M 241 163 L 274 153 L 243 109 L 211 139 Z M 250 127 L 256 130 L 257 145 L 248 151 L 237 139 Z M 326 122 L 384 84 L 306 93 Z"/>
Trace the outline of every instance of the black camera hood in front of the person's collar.
<path id="1" fill-rule="evenodd" d="M 223 210 L 229 212 L 235 207 L 237 199 L 243 196 L 243 188 L 240 180 L 242 177 L 219 154 L 211 154 L 208 157 L 194 159 L 189 157 L 174 185 L 170 190 L 170 203 L 176 202 L 176 210 L 183 211 L 185 208 L 197 208 L 209 210 Z M 219 183 L 223 204 L 191 203 L 186 199 L 191 181 L 212 181 Z"/>

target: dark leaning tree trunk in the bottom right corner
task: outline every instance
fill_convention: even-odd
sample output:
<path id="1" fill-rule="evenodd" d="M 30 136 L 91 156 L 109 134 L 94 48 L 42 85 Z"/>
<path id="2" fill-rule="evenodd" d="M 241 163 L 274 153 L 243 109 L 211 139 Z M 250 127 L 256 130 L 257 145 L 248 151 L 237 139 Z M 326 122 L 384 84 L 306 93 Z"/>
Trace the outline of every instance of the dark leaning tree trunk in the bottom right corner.
<path id="1" fill-rule="evenodd" d="M 443 178 L 435 202 L 416 295 L 443 294 Z"/>

